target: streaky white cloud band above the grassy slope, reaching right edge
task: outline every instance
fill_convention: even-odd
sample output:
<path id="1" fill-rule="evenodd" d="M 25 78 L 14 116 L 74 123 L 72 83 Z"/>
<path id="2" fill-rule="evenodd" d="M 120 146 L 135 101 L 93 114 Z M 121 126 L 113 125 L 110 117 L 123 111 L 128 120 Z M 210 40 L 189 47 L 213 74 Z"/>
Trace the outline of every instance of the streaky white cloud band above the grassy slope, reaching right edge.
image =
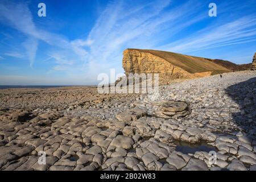
<path id="1" fill-rule="evenodd" d="M 193 35 L 166 44 L 160 49 L 172 52 L 192 52 L 256 41 L 256 17 L 245 16 L 224 24 L 213 24 Z"/>

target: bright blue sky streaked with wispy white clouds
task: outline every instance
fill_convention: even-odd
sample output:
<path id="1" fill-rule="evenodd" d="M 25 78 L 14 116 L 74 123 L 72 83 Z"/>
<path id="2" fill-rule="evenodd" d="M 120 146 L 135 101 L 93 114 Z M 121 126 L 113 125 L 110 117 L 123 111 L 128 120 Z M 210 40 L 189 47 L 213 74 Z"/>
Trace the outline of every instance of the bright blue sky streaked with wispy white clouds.
<path id="1" fill-rule="evenodd" d="M 0 85 L 94 85 L 111 68 L 123 73 L 126 48 L 250 63 L 255 8 L 256 0 L 1 0 Z"/>

